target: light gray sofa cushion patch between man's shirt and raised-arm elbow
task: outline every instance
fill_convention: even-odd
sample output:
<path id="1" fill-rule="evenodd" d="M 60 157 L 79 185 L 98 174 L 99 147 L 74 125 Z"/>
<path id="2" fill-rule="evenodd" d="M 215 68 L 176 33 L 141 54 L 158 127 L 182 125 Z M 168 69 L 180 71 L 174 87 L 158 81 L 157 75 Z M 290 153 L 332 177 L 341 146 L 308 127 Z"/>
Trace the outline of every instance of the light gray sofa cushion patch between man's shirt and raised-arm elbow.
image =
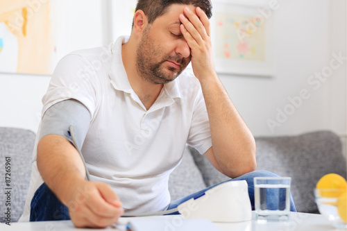
<path id="1" fill-rule="evenodd" d="M 201 172 L 196 167 L 193 157 L 186 147 L 182 162 L 171 173 L 169 178 L 171 201 L 193 194 L 196 191 L 205 189 L 205 187 Z"/>

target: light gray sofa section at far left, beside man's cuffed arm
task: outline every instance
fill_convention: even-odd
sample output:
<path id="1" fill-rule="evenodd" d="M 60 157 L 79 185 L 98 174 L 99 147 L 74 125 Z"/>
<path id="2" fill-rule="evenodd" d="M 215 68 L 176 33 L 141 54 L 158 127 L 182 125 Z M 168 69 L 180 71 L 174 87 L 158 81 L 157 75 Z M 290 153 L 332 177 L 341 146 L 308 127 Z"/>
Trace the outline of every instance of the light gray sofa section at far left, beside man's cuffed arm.
<path id="1" fill-rule="evenodd" d="M 10 207 L 11 222 L 18 221 L 23 213 L 26 193 L 31 177 L 31 159 L 35 143 L 35 133 L 19 128 L 0 128 L 0 222 L 6 222 L 7 208 Z M 8 185 L 5 178 L 5 157 L 10 157 L 10 206 L 6 205 L 4 194 Z"/>

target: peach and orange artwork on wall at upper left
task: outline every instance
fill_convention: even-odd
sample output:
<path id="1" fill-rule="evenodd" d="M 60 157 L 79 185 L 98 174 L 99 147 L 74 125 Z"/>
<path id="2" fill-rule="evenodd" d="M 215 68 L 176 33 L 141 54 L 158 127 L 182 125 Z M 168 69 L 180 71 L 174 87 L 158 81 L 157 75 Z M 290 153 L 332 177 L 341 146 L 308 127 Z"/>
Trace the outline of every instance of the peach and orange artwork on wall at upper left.
<path id="1" fill-rule="evenodd" d="M 1 0 L 0 72 L 51 74 L 50 1 Z"/>

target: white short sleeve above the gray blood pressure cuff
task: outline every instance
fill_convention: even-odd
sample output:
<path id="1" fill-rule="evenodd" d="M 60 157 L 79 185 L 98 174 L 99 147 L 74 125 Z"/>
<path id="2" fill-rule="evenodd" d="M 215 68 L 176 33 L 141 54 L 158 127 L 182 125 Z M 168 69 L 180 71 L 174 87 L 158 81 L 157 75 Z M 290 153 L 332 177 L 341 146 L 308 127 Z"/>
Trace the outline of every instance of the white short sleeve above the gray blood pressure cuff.
<path id="1" fill-rule="evenodd" d="M 96 71 L 81 55 L 69 54 L 58 63 L 46 94 L 42 98 L 42 114 L 51 105 L 67 99 L 83 103 L 93 117 L 96 109 Z"/>

